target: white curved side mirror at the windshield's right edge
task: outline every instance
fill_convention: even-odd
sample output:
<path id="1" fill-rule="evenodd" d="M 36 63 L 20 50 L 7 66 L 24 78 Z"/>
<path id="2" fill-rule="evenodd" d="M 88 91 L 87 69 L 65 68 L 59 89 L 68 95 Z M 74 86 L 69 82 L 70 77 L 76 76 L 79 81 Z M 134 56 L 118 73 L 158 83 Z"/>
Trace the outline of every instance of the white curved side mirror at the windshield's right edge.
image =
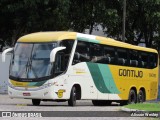
<path id="1" fill-rule="evenodd" d="M 56 53 L 58 51 L 61 51 L 61 50 L 64 50 L 64 49 L 66 49 L 66 47 L 56 47 L 56 48 L 54 48 L 50 53 L 50 62 L 51 63 L 55 62 Z"/>

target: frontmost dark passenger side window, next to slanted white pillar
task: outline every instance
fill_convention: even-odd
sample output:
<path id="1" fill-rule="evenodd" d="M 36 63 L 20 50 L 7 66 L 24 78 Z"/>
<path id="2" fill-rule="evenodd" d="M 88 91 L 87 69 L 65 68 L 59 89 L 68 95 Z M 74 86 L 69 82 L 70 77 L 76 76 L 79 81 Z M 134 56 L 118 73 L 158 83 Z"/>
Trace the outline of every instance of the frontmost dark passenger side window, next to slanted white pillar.
<path id="1" fill-rule="evenodd" d="M 89 43 L 78 41 L 72 64 L 74 65 L 79 62 L 89 62 L 89 61 L 90 61 Z"/>

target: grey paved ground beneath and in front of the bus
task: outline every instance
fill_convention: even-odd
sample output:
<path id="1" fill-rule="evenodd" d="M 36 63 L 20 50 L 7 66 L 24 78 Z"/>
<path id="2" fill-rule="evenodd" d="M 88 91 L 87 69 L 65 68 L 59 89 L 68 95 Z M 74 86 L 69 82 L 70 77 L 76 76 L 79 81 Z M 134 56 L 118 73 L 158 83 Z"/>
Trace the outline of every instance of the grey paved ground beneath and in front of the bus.
<path id="1" fill-rule="evenodd" d="M 8 95 L 2 95 L 0 94 L 0 111 L 2 116 L 2 112 L 4 111 L 18 111 L 23 116 L 25 111 L 28 112 L 40 112 L 44 113 L 45 115 L 51 115 L 51 116 L 57 116 L 54 117 L 54 120 L 106 120 L 106 119 L 113 119 L 113 120 L 149 120 L 150 118 L 140 118 L 140 117 L 124 117 L 124 116 L 130 116 L 130 113 L 122 112 L 121 106 L 117 103 L 113 103 L 111 106 L 93 106 L 91 101 L 85 100 L 85 101 L 78 101 L 77 105 L 75 107 L 69 107 L 67 102 L 42 102 L 40 106 L 33 106 L 31 104 L 31 100 L 27 99 L 10 99 Z M 49 112 L 47 112 L 49 111 Z M 95 112 L 97 111 L 97 112 Z M 110 112 L 113 111 L 113 112 Z M 121 112 L 120 112 L 121 111 Z M 15 117 L 18 114 L 15 114 Z M 69 116 L 69 117 L 67 117 Z M 91 116 L 91 117 L 90 117 Z M 110 117 L 106 117 L 110 116 Z M 117 117 L 122 116 L 122 117 Z M 1 119 L 1 118 L 0 118 Z M 4 120 L 6 119 L 22 119 L 21 117 L 16 118 L 2 118 Z M 23 120 L 28 120 L 28 118 L 23 118 Z M 33 119 L 33 118 L 32 118 Z M 53 119 L 52 117 L 42 117 L 42 118 L 34 118 L 34 120 L 40 120 L 40 119 Z"/>

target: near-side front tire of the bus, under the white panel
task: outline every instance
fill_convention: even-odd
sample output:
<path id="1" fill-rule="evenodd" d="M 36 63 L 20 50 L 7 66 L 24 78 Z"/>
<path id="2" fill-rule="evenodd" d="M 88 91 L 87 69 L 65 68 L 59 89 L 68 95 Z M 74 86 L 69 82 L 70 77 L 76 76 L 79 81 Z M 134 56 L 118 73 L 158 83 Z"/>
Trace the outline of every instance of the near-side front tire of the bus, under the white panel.
<path id="1" fill-rule="evenodd" d="M 68 100 L 68 105 L 69 106 L 75 106 L 76 105 L 76 88 L 73 86 L 70 94 L 70 99 Z"/>

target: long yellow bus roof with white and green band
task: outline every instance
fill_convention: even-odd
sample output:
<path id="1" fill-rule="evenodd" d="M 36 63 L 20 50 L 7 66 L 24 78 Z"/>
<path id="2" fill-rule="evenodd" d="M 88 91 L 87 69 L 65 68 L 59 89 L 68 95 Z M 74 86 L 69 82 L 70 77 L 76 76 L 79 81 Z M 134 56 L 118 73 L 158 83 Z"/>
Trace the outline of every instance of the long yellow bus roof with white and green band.
<path id="1" fill-rule="evenodd" d="M 32 34 L 28 34 L 28 35 L 25 35 L 19 38 L 17 42 L 27 42 L 27 43 L 36 42 L 38 43 L 38 42 L 54 42 L 54 41 L 60 41 L 60 40 L 65 40 L 65 39 L 75 40 L 77 39 L 78 34 L 83 36 L 83 38 L 81 36 L 79 37 L 79 39 L 83 41 L 94 42 L 94 43 L 96 42 L 99 44 L 105 44 L 105 45 L 110 45 L 110 46 L 123 47 L 123 48 L 157 53 L 157 50 L 155 49 L 131 45 L 131 44 L 120 42 L 120 41 L 117 41 L 111 38 L 107 38 L 107 37 L 100 37 L 100 36 L 81 34 L 77 32 L 67 32 L 67 31 L 66 32 L 61 31 L 61 32 L 32 33 Z"/>

